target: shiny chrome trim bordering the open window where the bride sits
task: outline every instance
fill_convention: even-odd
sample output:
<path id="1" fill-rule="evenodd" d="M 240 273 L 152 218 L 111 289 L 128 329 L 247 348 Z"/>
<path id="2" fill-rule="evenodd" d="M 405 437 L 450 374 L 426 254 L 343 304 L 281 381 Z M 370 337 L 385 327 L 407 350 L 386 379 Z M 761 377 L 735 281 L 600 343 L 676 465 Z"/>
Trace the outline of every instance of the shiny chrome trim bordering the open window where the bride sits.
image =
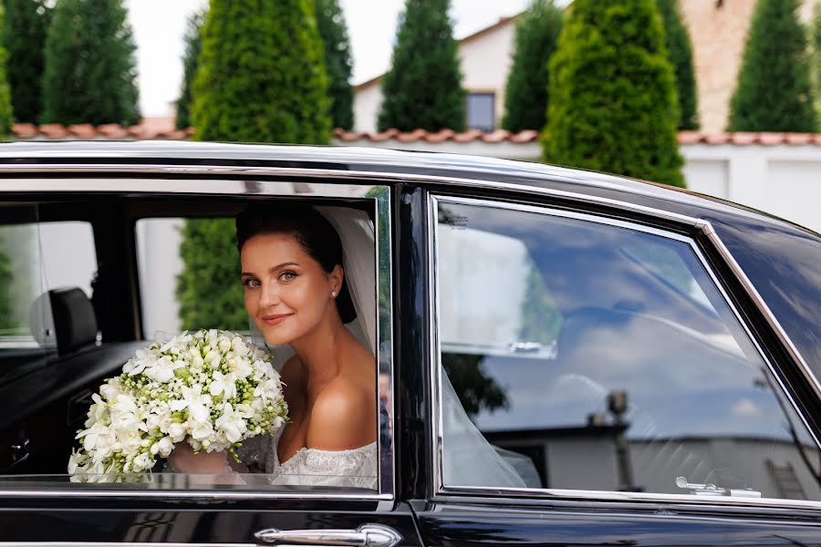
<path id="1" fill-rule="evenodd" d="M 0 170 L 2 173 L 2 170 Z M 2 179 L 0 179 L 2 180 Z M 357 200 L 370 200 L 373 202 L 374 206 L 374 214 L 375 214 L 375 222 L 374 222 L 374 258 L 375 264 L 374 267 L 376 271 L 374 272 L 375 279 L 376 279 L 376 336 L 377 336 L 377 347 L 374 348 L 374 354 L 377 363 L 377 377 L 374 377 L 374 382 L 377 382 L 379 379 L 379 363 L 384 362 L 387 366 L 387 374 L 389 376 L 389 385 L 390 385 L 390 402 L 394 408 L 391 408 L 390 416 L 389 416 L 389 424 L 388 427 L 391 431 L 395 432 L 398 428 L 395 427 L 393 424 L 393 419 L 396 416 L 395 406 L 396 406 L 396 394 L 394 393 L 394 377 L 395 377 L 395 363 L 394 363 L 394 356 L 393 356 L 393 331 L 392 331 L 392 293 L 393 293 L 393 276 L 392 276 L 392 268 L 393 268 L 393 259 L 392 259 L 392 239 L 390 238 L 390 187 L 380 184 L 327 184 L 327 183 L 315 183 L 315 182 L 296 182 L 296 183 L 283 183 L 283 182 L 271 182 L 271 181 L 231 181 L 231 180 L 216 180 L 216 181 L 181 181 L 181 180 L 165 180 L 162 179 L 161 174 L 160 176 L 153 178 L 153 179 L 117 179 L 115 183 L 112 183 L 112 180 L 100 180 L 100 179 L 71 179 L 71 180 L 56 180 L 56 179 L 46 179 L 46 180 L 16 180 L 16 181 L 3 181 L 2 186 L 0 186 L 0 200 L 2 200 L 2 196 L 6 192 L 20 192 L 20 193 L 36 193 L 38 191 L 44 191 L 43 188 L 38 188 L 36 182 L 37 181 L 44 181 L 44 183 L 48 186 L 48 183 L 52 183 L 52 188 L 50 190 L 57 190 L 57 191 L 67 191 L 68 193 L 78 193 L 81 191 L 94 191 L 97 190 L 100 186 L 105 187 L 105 191 L 115 191 L 115 192 L 130 192 L 130 193 L 186 193 L 186 192 L 194 192 L 199 194 L 206 194 L 209 197 L 219 197 L 220 194 L 223 195 L 234 195 L 234 194 L 242 194 L 242 195 L 263 195 L 263 196 L 279 196 L 279 197 L 288 197 L 288 196 L 300 196 L 307 199 L 312 198 L 352 198 Z M 63 182 L 64 184 L 57 184 L 53 185 L 53 183 Z M 83 187 L 79 185 L 78 188 L 77 182 L 86 182 L 88 186 Z M 15 182 L 18 184 L 16 185 Z M 35 182 L 35 184 L 32 184 Z M 68 184 L 66 184 L 68 182 Z M 192 182 L 196 184 L 194 187 Z M 102 185 L 100 183 L 103 183 Z M 181 184 L 182 183 L 182 184 Z M 213 189 L 211 191 L 203 190 L 204 183 L 213 183 Z M 56 186 L 56 187 L 55 187 Z M 185 187 L 188 188 L 185 188 Z M 227 188 L 226 188 L 227 187 Z M 210 187 L 209 187 L 210 188 Z M 181 191 L 182 190 L 182 191 Z M 388 237 L 384 238 L 384 241 L 380 241 L 379 239 L 379 224 L 384 222 L 384 225 L 387 226 L 388 230 Z M 380 244 L 382 243 L 382 244 Z M 380 258 L 384 258 L 384 262 L 387 264 L 387 271 L 380 272 L 380 263 L 382 262 Z M 383 298 L 383 295 L 387 295 L 387 297 Z M 389 320 L 386 322 L 381 321 L 380 316 L 385 315 L 389 317 Z M 140 319 L 141 320 L 141 319 Z M 380 342 L 387 343 L 387 347 L 384 351 L 381 349 Z M 377 417 L 379 417 L 379 397 L 377 397 L 376 401 L 377 405 Z M 378 435 L 377 435 L 377 447 L 378 447 L 378 454 L 381 454 L 382 446 L 381 446 L 381 424 L 378 421 Z M 192 498 L 192 499 L 214 499 L 214 500 L 226 500 L 226 499 L 308 499 L 308 500 L 362 500 L 362 501 L 384 501 L 384 500 L 393 500 L 395 498 L 396 492 L 396 478 L 395 478 L 395 442 L 391 442 L 390 447 L 387 451 L 390 453 L 390 467 L 387 469 L 382 469 L 382 458 L 378 457 L 379 464 L 378 464 L 378 477 L 377 477 L 377 492 L 373 494 L 346 494 L 346 493 L 328 493 L 328 492 L 317 492 L 317 493 L 288 493 L 288 492 L 276 492 L 270 491 L 267 492 L 265 490 L 257 490 L 257 491 L 188 491 L 188 490 L 140 490 L 140 489 L 133 489 L 133 490 L 73 490 L 67 489 L 64 487 L 53 487 L 44 485 L 42 488 L 36 488 L 34 486 L 28 486 L 26 489 L 16 489 L 14 487 L 8 487 L 3 483 L 3 476 L 0 475 L 0 498 L 6 497 L 37 497 L 37 496 L 47 496 L 47 497 L 126 497 L 126 498 L 168 498 L 168 499 L 180 499 L 180 498 Z M 11 477 L 14 477 L 12 475 Z M 385 479 L 384 481 L 382 479 Z M 382 489 L 383 483 L 385 484 L 385 490 Z"/>

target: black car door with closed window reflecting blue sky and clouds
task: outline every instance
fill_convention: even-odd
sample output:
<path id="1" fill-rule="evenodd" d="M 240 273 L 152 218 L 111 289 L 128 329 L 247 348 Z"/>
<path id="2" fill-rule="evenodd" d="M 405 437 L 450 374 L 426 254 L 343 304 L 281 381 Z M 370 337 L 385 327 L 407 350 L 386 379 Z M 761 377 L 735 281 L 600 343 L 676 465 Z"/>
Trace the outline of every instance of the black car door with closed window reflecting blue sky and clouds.
<path id="1" fill-rule="evenodd" d="M 415 199 L 426 544 L 821 541 L 821 452 L 789 364 L 697 232 L 509 193 Z"/>

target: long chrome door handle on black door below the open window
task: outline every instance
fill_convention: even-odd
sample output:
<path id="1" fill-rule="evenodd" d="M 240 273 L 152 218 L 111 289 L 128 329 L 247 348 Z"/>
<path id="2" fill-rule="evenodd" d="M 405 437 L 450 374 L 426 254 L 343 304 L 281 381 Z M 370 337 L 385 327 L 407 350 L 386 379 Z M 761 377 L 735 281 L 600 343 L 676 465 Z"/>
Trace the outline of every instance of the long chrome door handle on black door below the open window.
<path id="1" fill-rule="evenodd" d="M 356 530 L 277 530 L 256 532 L 257 540 L 266 543 L 296 545 L 337 545 L 340 547 L 393 547 L 402 541 L 399 532 L 382 524 L 362 524 Z"/>

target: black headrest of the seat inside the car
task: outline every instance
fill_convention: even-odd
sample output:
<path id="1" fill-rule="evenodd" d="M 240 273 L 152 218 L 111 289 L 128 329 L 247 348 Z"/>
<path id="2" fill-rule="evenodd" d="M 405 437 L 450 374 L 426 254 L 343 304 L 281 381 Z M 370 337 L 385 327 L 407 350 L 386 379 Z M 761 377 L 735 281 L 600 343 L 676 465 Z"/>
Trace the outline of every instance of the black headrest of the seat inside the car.
<path id="1" fill-rule="evenodd" d="M 31 307 L 30 323 L 40 345 L 53 344 L 56 339 L 60 355 L 97 341 L 94 306 L 78 287 L 59 287 L 38 296 Z"/>

